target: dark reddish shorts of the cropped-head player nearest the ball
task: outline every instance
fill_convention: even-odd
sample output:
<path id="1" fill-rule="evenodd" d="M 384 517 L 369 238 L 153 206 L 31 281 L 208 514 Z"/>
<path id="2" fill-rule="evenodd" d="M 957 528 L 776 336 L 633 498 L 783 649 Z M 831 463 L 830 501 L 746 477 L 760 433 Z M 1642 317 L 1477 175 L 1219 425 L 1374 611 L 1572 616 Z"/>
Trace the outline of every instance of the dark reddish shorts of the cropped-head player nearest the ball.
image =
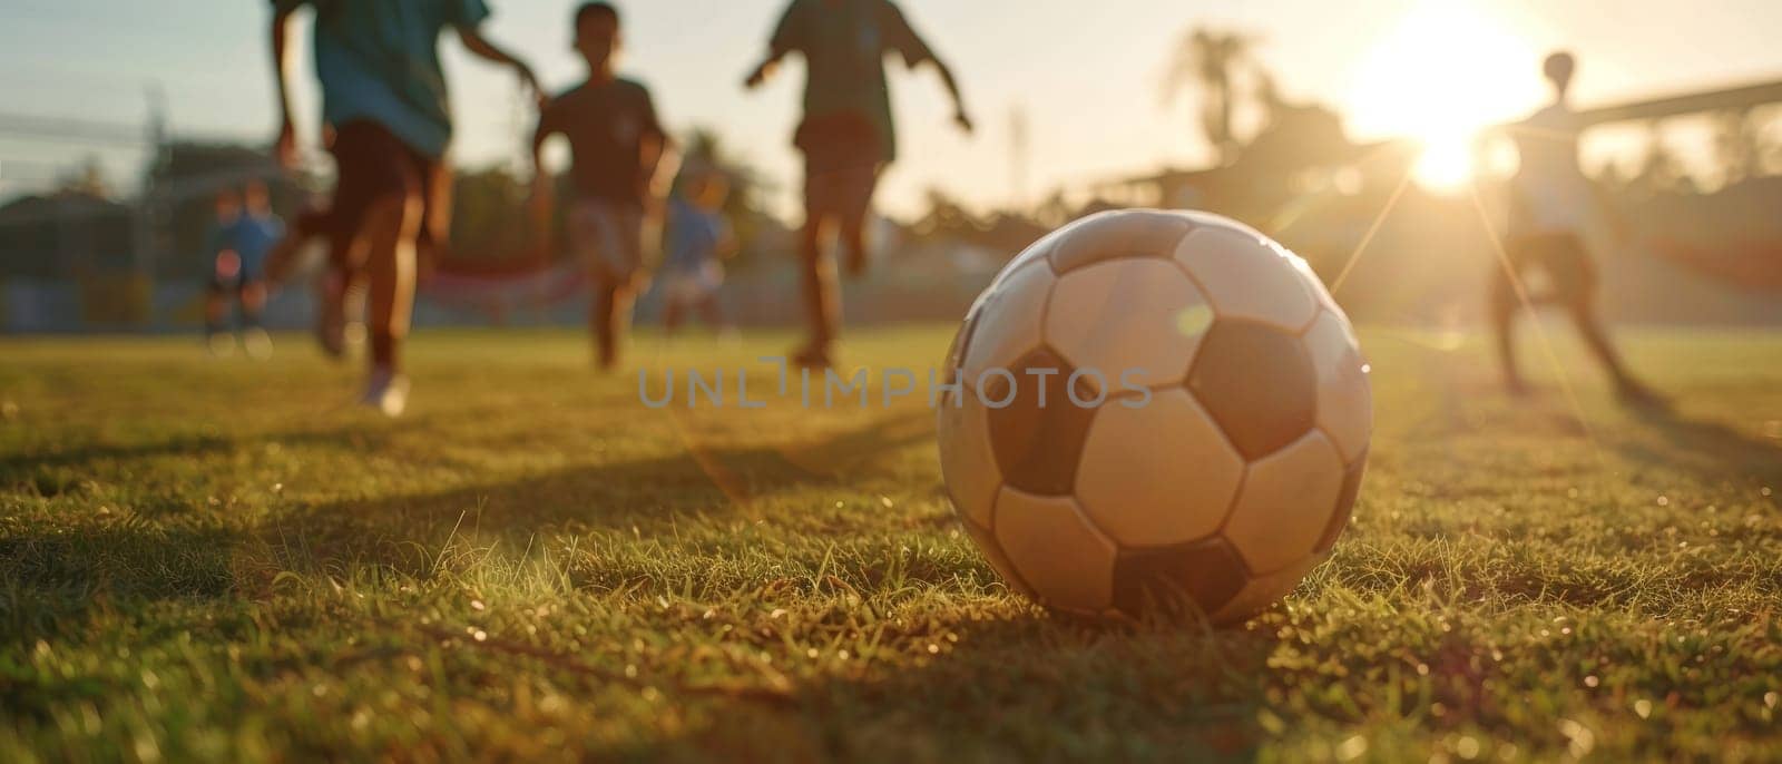
<path id="1" fill-rule="evenodd" d="M 873 125 L 854 114 L 805 119 L 793 144 L 804 151 L 805 215 L 864 217 L 882 166 Z"/>

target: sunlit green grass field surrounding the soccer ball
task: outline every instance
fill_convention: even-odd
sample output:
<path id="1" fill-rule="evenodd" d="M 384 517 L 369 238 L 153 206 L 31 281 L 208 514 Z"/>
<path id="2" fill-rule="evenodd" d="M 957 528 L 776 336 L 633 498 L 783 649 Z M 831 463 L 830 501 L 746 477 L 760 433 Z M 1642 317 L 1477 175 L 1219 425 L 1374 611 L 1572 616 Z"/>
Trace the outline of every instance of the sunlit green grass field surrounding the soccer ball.
<path id="1" fill-rule="evenodd" d="M 1367 333 L 1354 525 L 1228 630 L 1010 595 L 920 397 L 652 411 L 576 335 L 422 333 L 385 422 L 294 337 L 5 340 L 0 760 L 1782 760 L 1782 335 L 1632 337 L 1673 415 L 1561 337 L 1582 419 L 1451 340 Z"/>

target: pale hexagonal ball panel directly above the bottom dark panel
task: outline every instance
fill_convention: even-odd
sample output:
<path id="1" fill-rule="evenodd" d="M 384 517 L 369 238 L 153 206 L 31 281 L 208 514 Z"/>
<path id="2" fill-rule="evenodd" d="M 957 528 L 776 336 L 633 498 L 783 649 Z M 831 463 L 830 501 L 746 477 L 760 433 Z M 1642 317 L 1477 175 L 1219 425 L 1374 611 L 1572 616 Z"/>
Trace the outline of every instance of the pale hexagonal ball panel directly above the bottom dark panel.
<path id="1" fill-rule="evenodd" d="M 1244 458 L 1219 426 L 1169 388 L 1142 408 L 1096 411 L 1076 499 L 1121 547 L 1169 547 L 1217 532 L 1242 479 Z"/>

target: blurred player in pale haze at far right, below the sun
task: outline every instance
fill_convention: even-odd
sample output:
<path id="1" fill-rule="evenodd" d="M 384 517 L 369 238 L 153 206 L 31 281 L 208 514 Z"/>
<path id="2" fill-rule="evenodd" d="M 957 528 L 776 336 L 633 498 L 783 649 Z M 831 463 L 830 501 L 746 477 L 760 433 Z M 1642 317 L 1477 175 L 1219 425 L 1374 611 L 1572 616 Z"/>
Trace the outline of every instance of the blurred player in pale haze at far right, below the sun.
<path id="1" fill-rule="evenodd" d="M 1566 100 L 1575 68 L 1572 53 L 1549 55 L 1543 73 L 1554 87 L 1554 102 L 1504 130 L 1515 141 L 1520 158 L 1511 183 L 1509 232 L 1504 237 L 1509 267 L 1495 271 L 1490 296 L 1504 385 L 1518 395 L 1527 392 L 1516 370 L 1515 315 L 1520 299 L 1515 278 L 1547 285 L 1543 292 L 1527 296 L 1566 310 L 1623 401 L 1652 404 L 1659 397 L 1627 372 L 1597 315 L 1597 267 L 1584 246 L 1584 233 L 1609 208 L 1597 199 L 1595 185 L 1584 178 L 1577 162 L 1577 135 L 1582 126 Z"/>

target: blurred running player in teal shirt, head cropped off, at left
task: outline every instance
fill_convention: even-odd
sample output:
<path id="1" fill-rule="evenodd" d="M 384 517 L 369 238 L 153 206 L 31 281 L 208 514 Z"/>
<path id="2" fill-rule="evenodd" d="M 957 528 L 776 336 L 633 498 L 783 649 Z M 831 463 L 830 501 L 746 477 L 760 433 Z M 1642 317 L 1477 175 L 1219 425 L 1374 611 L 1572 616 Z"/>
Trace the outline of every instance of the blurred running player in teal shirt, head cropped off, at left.
<path id="1" fill-rule="evenodd" d="M 440 32 L 454 30 L 470 53 L 511 66 L 535 93 L 536 78 L 478 32 L 488 18 L 483 0 L 273 0 L 278 158 L 285 166 L 296 164 L 287 21 L 301 5 L 315 5 L 315 75 L 339 169 L 321 221 L 340 283 L 333 294 L 344 296 L 347 283 L 369 276 L 371 376 L 360 401 L 396 417 L 408 402 L 401 342 L 413 312 L 415 249 L 444 246 L 451 215 L 451 109 Z M 324 303 L 324 310 L 344 310 L 344 299 Z"/>

